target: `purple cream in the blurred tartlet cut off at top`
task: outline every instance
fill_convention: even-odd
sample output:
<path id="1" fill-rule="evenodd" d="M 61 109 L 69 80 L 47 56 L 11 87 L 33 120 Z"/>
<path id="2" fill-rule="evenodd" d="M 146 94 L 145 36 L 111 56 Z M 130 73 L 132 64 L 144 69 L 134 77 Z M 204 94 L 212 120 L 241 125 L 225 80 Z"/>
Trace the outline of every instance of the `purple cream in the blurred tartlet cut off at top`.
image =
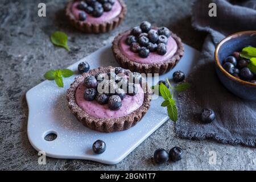
<path id="1" fill-rule="evenodd" d="M 79 1 L 73 3 L 72 5 L 72 13 L 76 17 L 76 19 L 79 19 L 79 13 L 81 13 L 82 10 L 77 9 L 77 5 L 79 4 Z M 109 12 L 104 12 L 104 14 L 98 18 L 93 17 L 90 14 L 87 14 L 87 18 L 85 22 L 88 23 L 102 23 L 102 22 L 108 22 L 109 20 L 114 19 L 117 17 L 122 11 L 122 5 L 119 1 L 115 1 L 112 10 Z"/>

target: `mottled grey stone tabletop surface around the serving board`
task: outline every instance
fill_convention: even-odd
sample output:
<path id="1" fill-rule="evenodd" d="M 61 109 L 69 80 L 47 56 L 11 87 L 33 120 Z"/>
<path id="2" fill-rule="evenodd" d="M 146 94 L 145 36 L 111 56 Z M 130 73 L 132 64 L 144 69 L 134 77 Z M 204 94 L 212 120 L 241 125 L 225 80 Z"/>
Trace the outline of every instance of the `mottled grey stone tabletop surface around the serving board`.
<path id="1" fill-rule="evenodd" d="M 37 16 L 39 2 L 47 5 L 47 17 Z M 37 152 L 27 139 L 28 108 L 24 94 L 42 82 L 49 69 L 65 68 L 112 42 L 118 32 L 150 20 L 167 26 L 184 43 L 201 48 L 204 34 L 191 27 L 191 0 L 127 0 L 128 15 L 116 30 L 102 35 L 84 35 L 65 20 L 63 0 L 1 0 L 0 6 L 0 169 L 77 170 L 220 170 L 256 169 L 253 148 L 228 146 L 213 141 L 191 141 L 175 136 L 172 122 L 166 122 L 121 163 L 108 166 L 86 160 L 47 158 L 38 165 Z M 61 30 L 69 35 L 71 52 L 54 47 L 49 35 Z M 184 159 L 161 166 L 154 163 L 156 148 L 184 148 Z M 217 152 L 217 164 L 210 165 L 209 151 Z"/>

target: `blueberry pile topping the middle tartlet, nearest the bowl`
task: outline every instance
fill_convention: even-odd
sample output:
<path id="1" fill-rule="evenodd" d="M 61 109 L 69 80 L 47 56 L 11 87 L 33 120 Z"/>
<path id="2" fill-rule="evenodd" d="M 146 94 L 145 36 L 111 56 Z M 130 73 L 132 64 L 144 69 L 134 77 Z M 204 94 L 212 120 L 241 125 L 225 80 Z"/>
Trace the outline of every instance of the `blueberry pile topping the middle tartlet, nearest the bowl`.
<path id="1" fill-rule="evenodd" d="M 126 38 L 126 44 L 130 46 L 132 52 L 138 53 L 143 58 L 148 57 L 150 52 L 165 55 L 170 36 L 171 31 L 168 28 L 153 29 L 150 22 L 145 21 L 131 30 L 131 34 Z"/>

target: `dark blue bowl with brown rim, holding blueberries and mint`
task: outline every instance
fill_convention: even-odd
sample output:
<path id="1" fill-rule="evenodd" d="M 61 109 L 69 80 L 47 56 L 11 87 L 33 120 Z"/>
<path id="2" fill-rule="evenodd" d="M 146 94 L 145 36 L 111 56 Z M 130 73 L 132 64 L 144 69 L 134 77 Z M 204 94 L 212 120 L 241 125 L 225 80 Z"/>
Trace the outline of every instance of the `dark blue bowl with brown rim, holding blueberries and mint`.
<path id="1" fill-rule="evenodd" d="M 214 53 L 218 78 L 233 94 L 256 100 L 256 31 L 243 31 L 223 39 Z"/>

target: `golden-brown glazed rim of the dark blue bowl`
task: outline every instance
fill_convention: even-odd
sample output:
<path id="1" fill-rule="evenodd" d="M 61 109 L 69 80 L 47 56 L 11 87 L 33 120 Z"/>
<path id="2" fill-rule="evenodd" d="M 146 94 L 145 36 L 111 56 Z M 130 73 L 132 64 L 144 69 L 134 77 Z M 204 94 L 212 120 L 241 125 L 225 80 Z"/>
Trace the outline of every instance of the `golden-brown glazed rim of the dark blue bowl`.
<path id="1" fill-rule="evenodd" d="M 238 79 L 236 77 L 234 77 L 233 75 L 230 75 L 223 67 L 222 65 L 220 64 L 220 60 L 218 60 L 218 52 L 220 51 L 220 48 L 221 46 L 227 42 L 228 40 L 230 39 L 234 39 L 234 38 L 238 38 L 242 35 L 247 35 L 247 34 L 255 34 L 256 35 L 256 31 L 252 30 L 252 31 L 241 31 L 241 32 L 236 32 L 234 34 L 231 34 L 229 36 L 226 36 L 226 38 L 222 39 L 220 43 L 218 43 L 216 49 L 215 49 L 215 52 L 214 52 L 214 62 L 215 64 L 217 65 L 217 67 L 220 69 L 220 71 L 222 73 L 224 73 L 226 76 L 228 76 L 229 78 L 231 78 L 232 80 L 234 81 L 237 81 L 237 82 L 240 82 L 241 84 L 244 84 L 244 85 L 250 85 L 250 86 L 254 86 L 256 87 L 256 84 L 254 83 L 251 83 L 251 82 L 247 82 L 247 81 L 243 81 L 241 79 Z"/>

